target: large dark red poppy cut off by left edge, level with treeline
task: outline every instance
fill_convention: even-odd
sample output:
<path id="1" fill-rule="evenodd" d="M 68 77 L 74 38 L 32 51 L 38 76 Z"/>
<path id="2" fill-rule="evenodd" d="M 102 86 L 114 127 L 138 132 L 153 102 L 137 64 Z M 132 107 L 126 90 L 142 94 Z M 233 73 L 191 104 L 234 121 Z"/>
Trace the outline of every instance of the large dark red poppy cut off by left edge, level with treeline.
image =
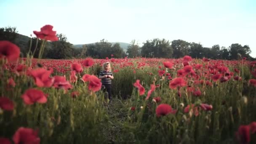
<path id="1" fill-rule="evenodd" d="M 7 40 L 0 41 L 0 59 L 6 58 L 9 62 L 17 61 L 20 53 L 20 48 L 17 45 Z"/>

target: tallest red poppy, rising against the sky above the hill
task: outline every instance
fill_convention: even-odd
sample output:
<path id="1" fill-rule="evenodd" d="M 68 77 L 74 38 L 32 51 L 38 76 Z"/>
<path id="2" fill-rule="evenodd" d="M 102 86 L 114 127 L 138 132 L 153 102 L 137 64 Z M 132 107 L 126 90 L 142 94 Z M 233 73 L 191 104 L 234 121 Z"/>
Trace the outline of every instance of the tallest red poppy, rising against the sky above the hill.
<path id="1" fill-rule="evenodd" d="M 40 32 L 33 31 L 37 38 L 41 40 L 57 41 L 59 38 L 56 36 L 56 31 L 53 31 L 53 26 L 45 25 L 41 28 Z"/>

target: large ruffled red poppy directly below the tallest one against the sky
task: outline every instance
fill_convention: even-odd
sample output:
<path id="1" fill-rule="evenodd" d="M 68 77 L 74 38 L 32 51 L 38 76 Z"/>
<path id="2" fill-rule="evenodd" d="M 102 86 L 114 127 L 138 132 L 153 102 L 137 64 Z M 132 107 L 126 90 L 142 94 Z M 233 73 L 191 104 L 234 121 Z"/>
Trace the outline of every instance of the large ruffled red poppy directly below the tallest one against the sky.
<path id="1" fill-rule="evenodd" d="M 53 84 L 53 79 L 50 78 L 51 71 L 44 68 L 38 68 L 31 70 L 28 75 L 31 75 L 35 79 L 35 84 L 38 87 L 51 87 Z"/>

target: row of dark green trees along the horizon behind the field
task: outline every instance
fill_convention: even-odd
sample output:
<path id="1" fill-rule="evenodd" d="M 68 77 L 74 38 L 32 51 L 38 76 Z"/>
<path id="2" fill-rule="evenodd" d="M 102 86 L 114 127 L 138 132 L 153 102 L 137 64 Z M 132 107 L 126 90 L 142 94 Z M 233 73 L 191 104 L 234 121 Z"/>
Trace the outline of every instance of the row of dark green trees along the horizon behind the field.
<path id="1" fill-rule="evenodd" d="M 248 45 L 240 45 L 238 43 L 231 44 L 228 48 L 213 45 L 211 48 L 203 47 L 200 43 L 189 43 L 185 40 L 165 40 L 152 39 L 147 40 L 140 47 L 136 40 L 132 40 L 125 52 L 119 43 L 109 43 L 107 40 L 83 45 L 81 48 L 75 48 L 68 42 L 64 34 L 57 34 L 59 41 L 48 42 L 45 46 L 43 58 L 48 59 L 71 59 L 84 58 L 91 56 L 93 58 L 105 59 L 113 54 L 115 58 L 148 57 L 148 58 L 181 58 L 189 55 L 192 58 L 209 58 L 209 59 L 238 59 L 239 57 L 250 56 L 251 49 Z M 19 37 L 20 38 L 20 37 Z M 35 53 L 34 57 L 38 57 L 39 46 L 42 40 L 32 37 L 27 42 L 19 41 L 16 27 L 0 28 L 0 40 L 9 40 L 21 47 L 21 53 L 26 56 L 27 53 Z M 25 44 L 24 44 L 25 43 Z M 30 51 L 29 51 L 30 50 Z"/>

